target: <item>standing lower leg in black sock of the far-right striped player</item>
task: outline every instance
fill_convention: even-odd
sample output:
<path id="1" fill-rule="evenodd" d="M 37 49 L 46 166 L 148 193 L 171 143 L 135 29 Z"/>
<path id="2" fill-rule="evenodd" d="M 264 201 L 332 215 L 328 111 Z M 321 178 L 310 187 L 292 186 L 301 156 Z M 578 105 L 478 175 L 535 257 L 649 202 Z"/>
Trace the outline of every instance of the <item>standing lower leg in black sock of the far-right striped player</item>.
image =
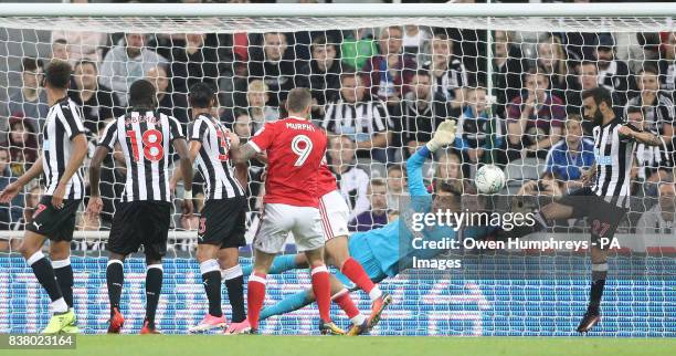
<path id="1" fill-rule="evenodd" d="M 608 278 L 608 252 L 599 247 L 592 247 L 592 283 L 589 292 L 587 313 L 578 325 L 578 333 L 588 333 L 601 321 L 601 297 Z"/>

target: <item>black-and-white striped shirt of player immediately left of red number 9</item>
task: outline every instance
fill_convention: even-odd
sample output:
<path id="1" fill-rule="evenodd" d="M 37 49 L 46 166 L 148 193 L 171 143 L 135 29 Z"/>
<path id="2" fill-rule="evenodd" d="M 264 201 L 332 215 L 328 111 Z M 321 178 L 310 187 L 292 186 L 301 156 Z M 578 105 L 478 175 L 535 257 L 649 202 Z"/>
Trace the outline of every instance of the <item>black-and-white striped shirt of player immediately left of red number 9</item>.
<path id="1" fill-rule="evenodd" d="M 244 189 L 234 178 L 230 160 L 230 132 L 211 115 L 200 115 L 188 127 L 190 140 L 202 144 L 197 156 L 204 177 L 207 199 L 243 197 Z"/>

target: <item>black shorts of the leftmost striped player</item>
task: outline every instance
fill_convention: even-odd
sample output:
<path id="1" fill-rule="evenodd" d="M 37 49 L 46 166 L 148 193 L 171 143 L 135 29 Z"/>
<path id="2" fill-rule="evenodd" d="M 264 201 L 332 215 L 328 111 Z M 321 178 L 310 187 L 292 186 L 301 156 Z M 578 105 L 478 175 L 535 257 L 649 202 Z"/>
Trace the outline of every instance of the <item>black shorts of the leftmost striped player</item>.
<path id="1" fill-rule="evenodd" d="M 73 241 L 75 214 L 82 199 L 64 199 L 63 208 L 52 206 L 52 196 L 43 196 L 33 212 L 33 222 L 25 230 L 42 234 L 52 241 Z"/>

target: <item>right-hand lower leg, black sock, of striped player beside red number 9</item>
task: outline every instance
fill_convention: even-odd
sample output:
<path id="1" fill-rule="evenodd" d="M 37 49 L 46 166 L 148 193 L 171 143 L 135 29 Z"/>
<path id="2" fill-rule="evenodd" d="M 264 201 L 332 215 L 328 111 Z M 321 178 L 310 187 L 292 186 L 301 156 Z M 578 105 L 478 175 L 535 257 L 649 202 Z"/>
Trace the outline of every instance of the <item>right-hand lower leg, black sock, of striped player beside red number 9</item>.
<path id="1" fill-rule="evenodd" d="M 244 310 L 244 275 L 240 265 L 237 248 L 219 251 L 221 278 L 228 290 L 228 299 L 232 307 L 232 323 L 225 329 L 226 335 L 245 334 L 251 331 L 246 311 Z"/>

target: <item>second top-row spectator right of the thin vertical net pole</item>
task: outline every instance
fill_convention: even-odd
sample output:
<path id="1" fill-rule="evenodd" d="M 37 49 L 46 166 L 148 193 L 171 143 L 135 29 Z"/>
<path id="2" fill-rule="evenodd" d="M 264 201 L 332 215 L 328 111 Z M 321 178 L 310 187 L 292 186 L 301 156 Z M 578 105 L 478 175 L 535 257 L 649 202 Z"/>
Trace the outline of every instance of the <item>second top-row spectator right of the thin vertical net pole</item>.
<path id="1" fill-rule="evenodd" d="M 538 43 L 538 66 L 549 80 L 553 96 L 563 98 L 568 88 L 568 57 L 558 36 L 548 34 Z"/>

